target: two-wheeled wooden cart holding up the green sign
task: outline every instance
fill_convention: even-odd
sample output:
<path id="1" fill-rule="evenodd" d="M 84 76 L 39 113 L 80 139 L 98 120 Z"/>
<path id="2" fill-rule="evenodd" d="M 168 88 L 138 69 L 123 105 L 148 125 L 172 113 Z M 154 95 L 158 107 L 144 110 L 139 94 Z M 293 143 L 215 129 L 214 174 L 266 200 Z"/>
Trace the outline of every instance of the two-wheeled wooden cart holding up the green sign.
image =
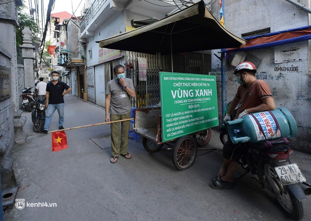
<path id="1" fill-rule="evenodd" d="M 198 150 L 211 150 L 198 149 L 198 146 L 203 147 L 209 142 L 211 137 L 210 128 L 169 142 L 163 142 L 161 136 L 161 107 L 135 109 L 134 118 L 133 129 L 135 133 L 143 137 L 142 142 L 146 151 L 154 153 L 160 150 L 164 144 L 169 145 L 171 148 L 168 149 L 173 150 L 173 164 L 178 170 L 190 168 L 194 163 Z"/>

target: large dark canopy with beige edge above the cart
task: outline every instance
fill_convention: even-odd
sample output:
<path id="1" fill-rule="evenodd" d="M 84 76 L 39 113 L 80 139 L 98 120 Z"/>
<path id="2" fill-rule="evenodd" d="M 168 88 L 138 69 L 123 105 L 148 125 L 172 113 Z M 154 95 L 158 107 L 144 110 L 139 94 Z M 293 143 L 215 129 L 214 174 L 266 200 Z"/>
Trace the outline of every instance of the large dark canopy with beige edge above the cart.
<path id="1" fill-rule="evenodd" d="M 96 41 L 102 48 L 155 54 L 239 48 L 245 40 L 211 15 L 204 1 L 152 24 Z"/>

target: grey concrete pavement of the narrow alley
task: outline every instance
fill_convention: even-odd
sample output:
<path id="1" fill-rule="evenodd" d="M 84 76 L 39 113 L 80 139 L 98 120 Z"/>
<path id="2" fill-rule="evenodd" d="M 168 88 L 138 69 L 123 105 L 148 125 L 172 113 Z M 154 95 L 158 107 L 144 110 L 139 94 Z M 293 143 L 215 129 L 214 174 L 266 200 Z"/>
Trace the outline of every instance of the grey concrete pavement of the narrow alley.
<path id="1" fill-rule="evenodd" d="M 288 220 L 250 175 L 237 181 L 234 190 L 208 187 L 222 163 L 222 144 L 215 130 L 207 146 L 216 151 L 199 151 L 194 165 L 179 171 L 166 145 L 160 152 L 148 153 L 141 137 L 137 142 L 129 139 L 132 159 L 120 157 L 111 164 L 108 125 L 66 131 L 68 149 L 52 152 L 51 134 L 34 133 L 31 113 L 23 116 L 28 119 L 24 130 L 29 136 L 14 148 L 13 159 L 17 198 L 25 199 L 28 206 L 6 209 L 4 220 Z M 50 131 L 58 129 L 57 119 L 56 112 Z M 103 108 L 65 96 L 65 128 L 100 122 L 104 122 Z M 291 159 L 310 183 L 310 155 L 294 152 Z M 311 220 L 310 196 L 304 207 L 304 220 Z"/>

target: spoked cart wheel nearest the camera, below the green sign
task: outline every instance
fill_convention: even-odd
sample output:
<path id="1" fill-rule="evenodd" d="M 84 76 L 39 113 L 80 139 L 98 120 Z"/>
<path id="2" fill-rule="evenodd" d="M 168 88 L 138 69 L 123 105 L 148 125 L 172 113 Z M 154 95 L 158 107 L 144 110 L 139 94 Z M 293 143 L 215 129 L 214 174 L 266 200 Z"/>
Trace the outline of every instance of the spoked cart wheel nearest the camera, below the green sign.
<path id="1" fill-rule="evenodd" d="M 173 148 L 173 164 L 178 170 L 190 168 L 197 154 L 196 141 L 192 136 L 180 137 Z"/>

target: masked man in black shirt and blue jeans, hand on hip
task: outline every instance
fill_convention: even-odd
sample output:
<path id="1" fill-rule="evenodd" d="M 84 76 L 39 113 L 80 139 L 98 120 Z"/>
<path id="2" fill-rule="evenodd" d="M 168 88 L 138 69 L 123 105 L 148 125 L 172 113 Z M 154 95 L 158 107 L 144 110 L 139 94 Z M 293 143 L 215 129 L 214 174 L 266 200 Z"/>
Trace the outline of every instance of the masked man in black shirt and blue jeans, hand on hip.
<path id="1" fill-rule="evenodd" d="M 52 71 L 52 82 L 47 84 L 46 103 L 47 108 L 43 133 L 47 134 L 51 124 L 52 116 L 57 110 L 58 112 L 58 129 L 64 129 L 64 96 L 71 91 L 71 87 L 59 79 L 59 73 Z"/>

